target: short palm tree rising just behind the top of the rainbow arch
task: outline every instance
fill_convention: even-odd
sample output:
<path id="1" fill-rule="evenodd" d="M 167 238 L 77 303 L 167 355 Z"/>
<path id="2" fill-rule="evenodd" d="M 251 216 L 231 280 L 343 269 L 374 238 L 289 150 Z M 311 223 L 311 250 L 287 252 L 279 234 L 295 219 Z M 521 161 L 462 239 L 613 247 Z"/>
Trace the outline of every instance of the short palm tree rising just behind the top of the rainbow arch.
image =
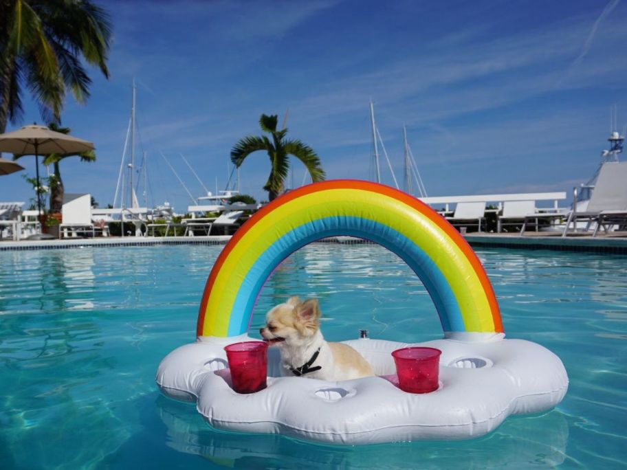
<path id="1" fill-rule="evenodd" d="M 270 201 L 283 193 L 284 181 L 289 172 L 289 155 L 294 155 L 303 162 L 312 181 L 324 181 L 325 170 L 320 166 L 320 158 L 314 149 L 303 144 L 298 139 L 286 140 L 287 128 L 276 130 L 278 115 L 261 115 L 259 125 L 261 130 L 272 134 L 272 142 L 265 135 L 257 137 L 249 135 L 241 139 L 231 150 L 231 161 L 239 168 L 248 155 L 257 150 L 265 150 L 270 157 L 270 176 L 263 189 L 268 192 Z"/>

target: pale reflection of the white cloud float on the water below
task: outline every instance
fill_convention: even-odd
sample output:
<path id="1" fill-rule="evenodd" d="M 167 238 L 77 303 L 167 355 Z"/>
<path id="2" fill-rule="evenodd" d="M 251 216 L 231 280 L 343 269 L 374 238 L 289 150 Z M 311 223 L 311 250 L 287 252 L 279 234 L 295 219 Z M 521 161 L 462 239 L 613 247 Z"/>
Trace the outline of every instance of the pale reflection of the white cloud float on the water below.
<path id="1" fill-rule="evenodd" d="M 201 456 L 219 467 L 241 469 L 472 469 L 564 462 L 569 426 L 553 410 L 537 418 L 512 418 L 485 438 L 461 442 L 428 441 L 371 446 L 305 443 L 273 434 L 217 432 L 199 423 L 193 405 L 157 399 L 169 447 Z M 489 456 L 485 448 L 492 449 Z M 414 466 L 414 467 L 412 467 Z"/>

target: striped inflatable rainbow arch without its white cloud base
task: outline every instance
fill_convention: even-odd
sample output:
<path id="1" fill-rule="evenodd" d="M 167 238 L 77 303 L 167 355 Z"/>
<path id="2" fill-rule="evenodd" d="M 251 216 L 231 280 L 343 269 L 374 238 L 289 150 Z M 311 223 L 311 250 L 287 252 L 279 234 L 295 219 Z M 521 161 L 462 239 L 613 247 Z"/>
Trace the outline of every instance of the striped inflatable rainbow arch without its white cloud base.
<path id="1" fill-rule="evenodd" d="M 340 234 L 369 238 L 405 260 L 423 280 L 445 332 L 503 332 L 481 262 L 443 217 L 388 186 L 334 180 L 288 192 L 236 232 L 207 280 L 197 335 L 246 333 L 272 270 L 310 241 Z"/>

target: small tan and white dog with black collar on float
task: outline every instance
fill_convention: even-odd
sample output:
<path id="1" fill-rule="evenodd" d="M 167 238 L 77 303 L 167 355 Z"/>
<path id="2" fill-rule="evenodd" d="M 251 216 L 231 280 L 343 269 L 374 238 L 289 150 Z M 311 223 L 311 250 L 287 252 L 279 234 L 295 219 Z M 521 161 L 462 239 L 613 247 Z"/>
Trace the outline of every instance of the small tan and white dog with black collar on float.
<path id="1" fill-rule="evenodd" d="M 264 341 L 281 349 L 286 375 L 329 381 L 374 375 L 370 364 L 351 346 L 325 341 L 316 299 L 300 302 L 292 297 L 269 311 L 265 322 L 259 333 Z"/>

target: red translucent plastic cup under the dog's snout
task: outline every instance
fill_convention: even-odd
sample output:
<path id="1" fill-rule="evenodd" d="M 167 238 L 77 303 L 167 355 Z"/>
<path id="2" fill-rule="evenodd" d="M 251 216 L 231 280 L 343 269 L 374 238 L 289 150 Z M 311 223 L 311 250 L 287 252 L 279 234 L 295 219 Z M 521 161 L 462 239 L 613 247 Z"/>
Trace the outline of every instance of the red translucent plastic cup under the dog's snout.
<path id="1" fill-rule="evenodd" d="M 224 347 L 231 370 L 233 390 L 254 393 L 266 387 L 267 343 L 248 341 Z"/>

